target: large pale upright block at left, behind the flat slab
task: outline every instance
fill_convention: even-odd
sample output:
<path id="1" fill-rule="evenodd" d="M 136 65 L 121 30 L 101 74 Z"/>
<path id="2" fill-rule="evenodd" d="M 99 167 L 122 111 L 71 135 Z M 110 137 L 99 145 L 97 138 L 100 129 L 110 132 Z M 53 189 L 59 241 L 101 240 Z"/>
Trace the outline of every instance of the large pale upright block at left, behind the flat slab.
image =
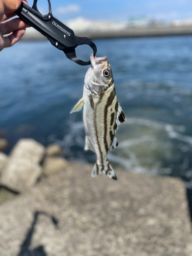
<path id="1" fill-rule="evenodd" d="M 3 169 L 0 183 L 16 192 L 33 186 L 42 173 L 38 163 L 45 154 L 45 147 L 33 139 L 20 139 L 10 153 Z"/>

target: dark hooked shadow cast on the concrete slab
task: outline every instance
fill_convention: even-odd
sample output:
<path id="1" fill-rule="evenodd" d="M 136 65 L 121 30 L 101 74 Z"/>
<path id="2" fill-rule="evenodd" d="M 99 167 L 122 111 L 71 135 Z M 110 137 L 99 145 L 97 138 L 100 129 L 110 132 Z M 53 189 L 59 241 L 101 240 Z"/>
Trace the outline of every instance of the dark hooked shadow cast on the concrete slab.
<path id="1" fill-rule="evenodd" d="M 58 221 L 53 216 L 49 216 L 46 212 L 43 211 L 34 212 L 33 223 L 27 232 L 26 238 L 22 246 L 20 247 L 20 252 L 17 256 L 47 256 L 43 246 L 38 246 L 32 251 L 29 249 L 31 239 L 35 230 L 35 225 L 39 215 L 46 215 L 50 217 L 52 219 L 53 224 L 57 227 Z"/>

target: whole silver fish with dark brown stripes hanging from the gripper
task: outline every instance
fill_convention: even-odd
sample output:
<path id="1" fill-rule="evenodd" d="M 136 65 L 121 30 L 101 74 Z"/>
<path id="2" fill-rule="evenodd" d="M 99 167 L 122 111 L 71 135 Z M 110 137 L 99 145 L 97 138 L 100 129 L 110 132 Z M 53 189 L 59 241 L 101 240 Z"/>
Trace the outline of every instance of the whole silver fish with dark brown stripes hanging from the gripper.
<path id="1" fill-rule="evenodd" d="M 85 150 L 91 150 L 97 156 L 92 176 L 103 173 L 117 180 L 107 154 L 118 146 L 115 133 L 125 116 L 117 101 L 113 73 L 107 58 L 91 55 L 91 67 L 84 78 L 83 96 L 71 113 L 83 108 Z"/>

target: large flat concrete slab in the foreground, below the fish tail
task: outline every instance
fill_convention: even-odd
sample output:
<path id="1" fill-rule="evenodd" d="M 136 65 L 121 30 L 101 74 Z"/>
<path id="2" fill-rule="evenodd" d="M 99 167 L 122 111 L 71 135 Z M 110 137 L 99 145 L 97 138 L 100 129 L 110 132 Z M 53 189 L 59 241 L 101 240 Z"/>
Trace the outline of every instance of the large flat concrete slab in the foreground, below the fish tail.
<path id="1" fill-rule="evenodd" d="M 181 180 L 116 169 L 114 181 L 92 168 L 70 164 L 1 205 L 1 256 L 192 255 Z"/>

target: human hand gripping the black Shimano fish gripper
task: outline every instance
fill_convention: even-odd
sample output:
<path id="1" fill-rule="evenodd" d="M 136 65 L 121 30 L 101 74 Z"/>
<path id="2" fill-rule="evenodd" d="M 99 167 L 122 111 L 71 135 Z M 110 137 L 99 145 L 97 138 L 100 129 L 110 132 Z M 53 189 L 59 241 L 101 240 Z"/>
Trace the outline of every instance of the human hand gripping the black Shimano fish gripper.
<path id="1" fill-rule="evenodd" d="M 27 4 L 27 1 L 23 1 Z M 15 16 L 14 12 L 20 7 L 22 0 L 0 0 L 0 52 L 13 46 L 25 33 L 25 29 L 30 27 L 20 18 L 14 18 L 5 22 L 5 20 Z M 2 23 L 5 22 L 5 23 Z M 4 37 L 6 34 L 9 36 Z"/>

